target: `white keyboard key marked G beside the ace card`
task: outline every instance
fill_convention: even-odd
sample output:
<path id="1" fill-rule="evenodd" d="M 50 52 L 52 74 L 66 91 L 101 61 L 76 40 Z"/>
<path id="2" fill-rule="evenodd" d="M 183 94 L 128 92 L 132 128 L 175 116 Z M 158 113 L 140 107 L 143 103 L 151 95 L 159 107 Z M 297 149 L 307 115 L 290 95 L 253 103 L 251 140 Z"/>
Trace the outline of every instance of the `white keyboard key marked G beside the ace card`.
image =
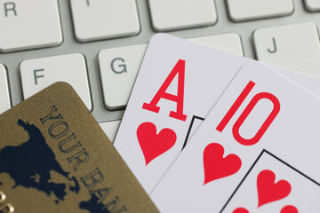
<path id="1" fill-rule="evenodd" d="M 100 51 L 99 65 L 105 106 L 124 108 L 138 75 L 147 44 Z"/>

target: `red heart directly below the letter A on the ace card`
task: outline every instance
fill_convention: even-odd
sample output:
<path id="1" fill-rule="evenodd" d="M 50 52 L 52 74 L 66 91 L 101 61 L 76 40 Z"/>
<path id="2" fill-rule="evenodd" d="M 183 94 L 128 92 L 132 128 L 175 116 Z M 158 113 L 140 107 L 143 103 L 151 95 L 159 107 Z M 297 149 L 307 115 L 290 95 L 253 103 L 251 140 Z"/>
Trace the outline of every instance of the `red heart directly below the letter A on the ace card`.
<path id="1" fill-rule="evenodd" d="M 171 129 L 166 128 L 156 134 L 156 125 L 152 122 L 142 122 L 138 127 L 137 137 L 146 166 L 157 156 L 168 151 L 177 140 L 176 133 Z"/>

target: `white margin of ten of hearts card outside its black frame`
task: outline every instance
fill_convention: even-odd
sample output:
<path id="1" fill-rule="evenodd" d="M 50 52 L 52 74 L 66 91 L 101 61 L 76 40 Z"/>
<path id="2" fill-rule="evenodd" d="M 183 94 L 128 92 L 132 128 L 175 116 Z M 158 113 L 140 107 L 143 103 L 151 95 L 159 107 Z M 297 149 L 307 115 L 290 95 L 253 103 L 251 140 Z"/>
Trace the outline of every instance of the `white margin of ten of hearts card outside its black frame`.
<path id="1" fill-rule="evenodd" d="M 319 183 L 319 108 L 320 99 L 268 67 L 244 65 L 151 193 L 152 200 L 161 212 L 220 212 L 263 149 Z M 299 202 L 288 204 L 305 207 L 308 195 L 300 194 Z M 256 200 L 239 204 L 232 208 L 257 207 Z"/>

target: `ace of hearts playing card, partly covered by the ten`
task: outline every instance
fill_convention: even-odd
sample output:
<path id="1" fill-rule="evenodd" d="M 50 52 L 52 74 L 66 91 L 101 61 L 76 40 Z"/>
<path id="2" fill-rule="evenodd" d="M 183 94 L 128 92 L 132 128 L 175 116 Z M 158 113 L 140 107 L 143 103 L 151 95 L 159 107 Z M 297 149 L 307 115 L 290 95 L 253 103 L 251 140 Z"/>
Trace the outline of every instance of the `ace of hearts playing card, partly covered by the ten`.
<path id="1" fill-rule="evenodd" d="M 151 39 L 115 140 L 117 151 L 147 193 L 249 61 L 174 36 L 158 34 Z M 289 75 L 283 69 L 276 71 Z M 320 96 L 317 80 L 289 77 Z"/>

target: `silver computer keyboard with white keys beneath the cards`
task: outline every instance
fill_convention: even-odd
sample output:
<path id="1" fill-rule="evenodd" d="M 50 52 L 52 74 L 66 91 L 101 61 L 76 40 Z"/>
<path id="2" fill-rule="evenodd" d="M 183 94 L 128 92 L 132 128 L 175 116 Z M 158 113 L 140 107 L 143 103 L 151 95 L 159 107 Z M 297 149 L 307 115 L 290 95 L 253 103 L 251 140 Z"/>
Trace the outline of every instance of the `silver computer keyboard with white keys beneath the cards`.
<path id="1" fill-rule="evenodd" d="M 319 0 L 0 0 L 0 113 L 65 81 L 113 138 L 156 32 L 319 78 L 319 18 Z"/>

